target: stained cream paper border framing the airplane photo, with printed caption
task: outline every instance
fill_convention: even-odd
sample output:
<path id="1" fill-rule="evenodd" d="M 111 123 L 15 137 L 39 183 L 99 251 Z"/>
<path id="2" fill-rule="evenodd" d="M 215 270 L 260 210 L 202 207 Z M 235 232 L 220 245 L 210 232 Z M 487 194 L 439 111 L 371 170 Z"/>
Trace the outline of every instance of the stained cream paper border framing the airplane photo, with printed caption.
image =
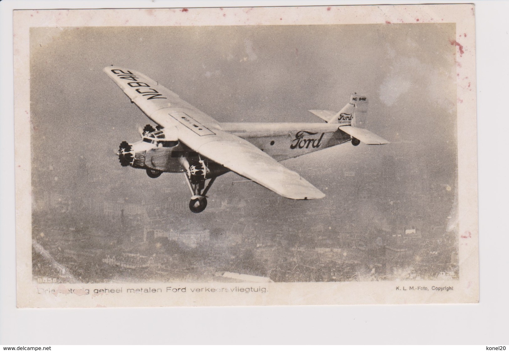
<path id="1" fill-rule="evenodd" d="M 222 16 L 223 12 L 228 16 Z M 478 300 L 478 230 L 476 176 L 475 81 L 467 89 L 458 80 L 458 174 L 460 223 L 460 280 L 453 281 L 378 281 L 342 283 L 270 283 L 270 284 L 34 284 L 31 279 L 31 188 L 29 28 L 36 26 L 125 26 L 128 25 L 238 25 L 238 24 L 348 24 L 348 23 L 420 23 L 454 22 L 464 53 L 457 55 L 459 76 L 475 76 L 474 11 L 470 5 L 367 6 L 307 8 L 177 9 L 167 10 L 46 10 L 20 11 L 14 14 L 15 55 L 15 135 L 16 137 L 16 235 L 18 307 L 159 307 L 159 306 L 235 306 L 235 305 L 336 305 L 336 304 L 417 304 L 474 303 Z M 457 38 L 460 41 L 459 38 Z M 461 67 L 460 67 L 461 66 Z M 154 77 L 157 79 L 157 77 Z M 467 233 L 469 233 L 467 235 Z M 93 289 L 122 287 L 176 288 L 176 294 L 93 294 Z M 254 286 L 256 285 L 256 286 Z M 428 291 L 401 294 L 396 286 L 426 286 Z M 265 294 L 192 293 L 191 288 L 266 287 Z M 435 292 L 432 286 L 453 286 L 454 290 Z M 44 289 L 54 293 L 38 294 Z M 74 291 L 70 293 L 70 291 Z M 82 295 L 83 289 L 91 294 Z"/>

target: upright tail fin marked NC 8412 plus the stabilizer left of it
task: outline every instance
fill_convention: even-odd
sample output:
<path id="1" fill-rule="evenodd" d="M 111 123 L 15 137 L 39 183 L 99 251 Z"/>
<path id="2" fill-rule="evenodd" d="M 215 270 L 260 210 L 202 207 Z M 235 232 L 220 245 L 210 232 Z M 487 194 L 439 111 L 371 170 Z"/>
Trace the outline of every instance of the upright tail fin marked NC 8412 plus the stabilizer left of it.
<path id="1" fill-rule="evenodd" d="M 350 94 L 350 100 L 339 112 L 325 110 L 309 110 L 327 123 L 364 125 L 364 115 L 367 112 L 367 98 L 357 94 Z M 360 117 L 360 118 L 359 118 Z"/>

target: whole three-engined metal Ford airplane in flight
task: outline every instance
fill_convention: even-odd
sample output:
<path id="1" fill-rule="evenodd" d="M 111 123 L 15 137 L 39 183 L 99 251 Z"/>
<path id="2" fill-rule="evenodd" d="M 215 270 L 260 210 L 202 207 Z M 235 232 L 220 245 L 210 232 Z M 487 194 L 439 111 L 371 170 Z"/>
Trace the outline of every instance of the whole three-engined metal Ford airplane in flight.
<path id="1" fill-rule="evenodd" d="M 221 174 L 233 171 L 291 199 L 319 199 L 320 190 L 278 161 L 351 141 L 358 145 L 387 140 L 355 127 L 355 113 L 365 112 L 365 97 L 351 94 L 339 112 L 310 110 L 327 123 L 220 123 L 149 77 L 108 66 L 104 72 L 156 127 L 145 126 L 142 140 L 122 141 L 122 166 L 143 168 L 150 178 L 183 172 L 192 197 L 189 209 L 207 207 L 207 192 Z M 208 181 L 208 184 L 206 182 Z"/>

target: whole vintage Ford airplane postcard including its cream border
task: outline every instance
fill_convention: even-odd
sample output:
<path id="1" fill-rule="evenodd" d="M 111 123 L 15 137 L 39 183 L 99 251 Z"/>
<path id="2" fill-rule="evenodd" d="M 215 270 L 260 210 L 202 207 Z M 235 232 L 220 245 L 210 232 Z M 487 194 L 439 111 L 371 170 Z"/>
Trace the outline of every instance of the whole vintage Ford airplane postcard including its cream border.
<path id="1" fill-rule="evenodd" d="M 18 307 L 477 302 L 474 19 L 15 11 Z"/>

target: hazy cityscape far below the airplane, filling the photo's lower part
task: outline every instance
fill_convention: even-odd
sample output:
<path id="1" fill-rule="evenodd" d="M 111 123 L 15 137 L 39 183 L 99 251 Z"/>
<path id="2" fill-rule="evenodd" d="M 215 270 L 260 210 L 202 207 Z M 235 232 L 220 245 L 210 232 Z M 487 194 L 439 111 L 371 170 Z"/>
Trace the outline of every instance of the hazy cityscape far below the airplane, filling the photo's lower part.
<path id="1" fill-rule="evenodd" d="M 315 200 L 319 206 L 269 197 L 256 184 L 233 183 L 232 174 L 234 181 L 222 182 L 212 206 L 197 215 L 188 213 L 185 195 L 164 185 L 146 185 L 141 194 L 133 186 L 142 199 L 115 196 L 115 184 L 85 180 L 88 163 L 80 158 L 74 180 L 101 191 L 80 199 L 47 187 L 36 193 L 34 279 L 216 281 L 221 272 L 275 282 L 458 279 L 453 187 L 427 179 L 405 188 L 398 160 L 381 161 L 389 166 L 378 172 L 355 161 L 324 171 L 328 179 L 334 173 L 328 188 L 341 188 L 341 198 Z M 228 196 L 233 187 L 250 196 Z"/>

